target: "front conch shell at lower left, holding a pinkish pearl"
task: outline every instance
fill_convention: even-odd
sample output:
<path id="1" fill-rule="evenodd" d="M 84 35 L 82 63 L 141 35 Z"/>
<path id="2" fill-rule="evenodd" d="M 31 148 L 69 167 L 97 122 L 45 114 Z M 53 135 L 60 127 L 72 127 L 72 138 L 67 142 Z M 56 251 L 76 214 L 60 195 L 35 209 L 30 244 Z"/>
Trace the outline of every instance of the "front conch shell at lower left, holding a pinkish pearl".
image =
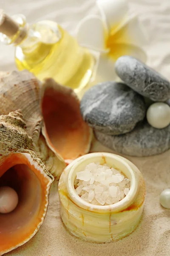
<path id="1" fill-rule="evenodd" d="M 0 214 L 0 255 L 37 233 L 47 212 L 54 180 L 36 154 L 27 149 L 32 138 L 25 127 L 20 110 L 0 116 L 0 186 L 12 187 L 19 197 L 12 212 Z"/>

